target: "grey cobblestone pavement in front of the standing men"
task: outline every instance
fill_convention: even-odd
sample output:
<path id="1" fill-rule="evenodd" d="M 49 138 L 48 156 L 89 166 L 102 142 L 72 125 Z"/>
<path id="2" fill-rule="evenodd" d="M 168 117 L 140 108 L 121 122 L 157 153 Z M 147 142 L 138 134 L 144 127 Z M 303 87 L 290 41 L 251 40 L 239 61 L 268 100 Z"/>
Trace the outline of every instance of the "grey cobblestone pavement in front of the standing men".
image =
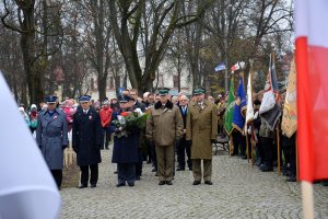
<path id="1" fill-rule="evenodd" d="M 60 192 L 60 218 L 303 218 L 298 183 L 223 152 L 213 157 L 211 186 L 191 185 L 191 171 L 176 172 L 172 186 L 159 186 L 151 164 L 144 164 L 134 187 L 118 188 L 112 150 L 102 157 L 96 188 Z M 316 218 L 328 218 L 328 187 L 320 184 L 315 185 L 315 210 Z"/>

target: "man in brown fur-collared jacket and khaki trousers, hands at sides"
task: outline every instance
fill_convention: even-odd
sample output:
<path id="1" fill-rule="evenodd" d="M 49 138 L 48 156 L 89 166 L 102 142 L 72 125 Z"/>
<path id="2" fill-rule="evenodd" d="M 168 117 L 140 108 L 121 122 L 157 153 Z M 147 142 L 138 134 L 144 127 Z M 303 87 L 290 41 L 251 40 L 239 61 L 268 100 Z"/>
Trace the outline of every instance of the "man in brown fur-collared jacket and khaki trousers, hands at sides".
<path id="1" fill-rule="evenodd" d="M 148 118 L 145 137 L 154 141 L 159 185 L 172 185 L 175 141 L 183 137 L 184 122 L 179 108 L 168 100 L 169 89 L 159 90 L 160 101 Z"/>

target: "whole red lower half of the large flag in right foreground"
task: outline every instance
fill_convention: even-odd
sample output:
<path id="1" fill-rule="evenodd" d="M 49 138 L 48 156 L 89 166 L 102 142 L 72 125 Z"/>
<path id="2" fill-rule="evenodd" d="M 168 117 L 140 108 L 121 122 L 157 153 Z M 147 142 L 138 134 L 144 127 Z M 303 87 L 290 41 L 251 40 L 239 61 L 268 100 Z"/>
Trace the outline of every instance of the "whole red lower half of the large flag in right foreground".
<path id="1" fill-rule="evenodd" d="M 328 178 L 328 48 L 296 39 L 300 178 Z"/>

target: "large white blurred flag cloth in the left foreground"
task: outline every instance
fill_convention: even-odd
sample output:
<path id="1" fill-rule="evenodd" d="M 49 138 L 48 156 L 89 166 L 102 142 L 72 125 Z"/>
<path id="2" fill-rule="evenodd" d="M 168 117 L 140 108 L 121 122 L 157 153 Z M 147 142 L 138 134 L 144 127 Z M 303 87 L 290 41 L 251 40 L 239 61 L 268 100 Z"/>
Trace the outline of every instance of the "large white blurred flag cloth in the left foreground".
<path id="1" fill-rule="evenodd" d="M 0 103 L 0 218 L 57 218 L 57 186 L 1 71 Z"/>

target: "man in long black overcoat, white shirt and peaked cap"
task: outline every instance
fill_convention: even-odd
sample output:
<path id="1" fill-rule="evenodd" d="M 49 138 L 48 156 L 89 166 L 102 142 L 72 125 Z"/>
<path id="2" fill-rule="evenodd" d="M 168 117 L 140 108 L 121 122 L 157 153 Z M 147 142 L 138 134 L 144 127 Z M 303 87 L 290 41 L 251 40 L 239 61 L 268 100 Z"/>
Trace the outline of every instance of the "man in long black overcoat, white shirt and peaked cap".
<path id="1" fill-rule="evenodd" d="M 102 162 L 101 147 L 103 145 L 99 114 L 93 110 L 90 96 L 80 97 L 81 108 L 73 117 L 72 146 L 77 153 L 78 165 L 81 170 L 81 185 L 87 187 L 89 169 L 91 187 L 96 187 L 98 181 L 98 163 Z"/>

